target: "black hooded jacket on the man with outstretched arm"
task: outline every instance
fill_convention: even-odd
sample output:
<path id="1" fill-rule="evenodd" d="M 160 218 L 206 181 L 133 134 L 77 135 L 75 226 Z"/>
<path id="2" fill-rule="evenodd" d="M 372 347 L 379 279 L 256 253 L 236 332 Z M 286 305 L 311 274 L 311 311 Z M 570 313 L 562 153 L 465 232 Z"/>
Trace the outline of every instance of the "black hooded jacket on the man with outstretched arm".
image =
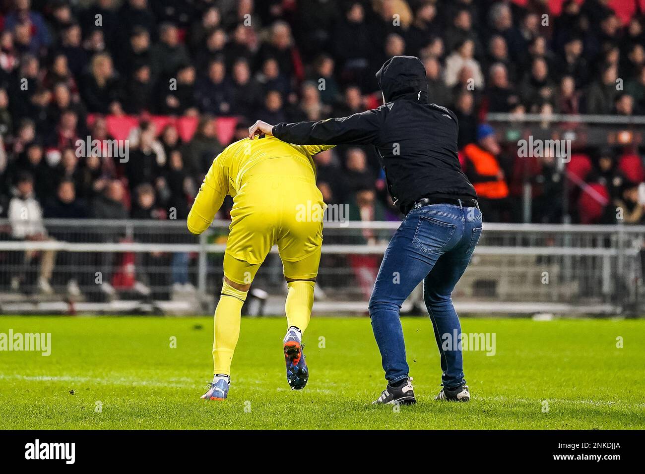
<path id="1" fill-rule="evenodd" d="M 394 56 L 376 78 L 386 101 L 379 108 L 340 119 L 279 123 L 273 135 L 294 144 L 372 144 L 401 209 L 422 197 L 476 199 L 457 157 L 457 117 L 428 104 L 419 58 Z"/>

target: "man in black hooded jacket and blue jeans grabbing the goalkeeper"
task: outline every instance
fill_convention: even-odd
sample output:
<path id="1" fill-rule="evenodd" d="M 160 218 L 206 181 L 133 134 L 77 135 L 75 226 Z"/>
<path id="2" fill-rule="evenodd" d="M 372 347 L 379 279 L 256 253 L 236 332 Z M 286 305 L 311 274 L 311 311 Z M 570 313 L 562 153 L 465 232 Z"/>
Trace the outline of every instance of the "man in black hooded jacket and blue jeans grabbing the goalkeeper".
<path id="1" fill-rule="evenodd" d="M 388 190 L 406 215 L 384 254 L 370 317 L 388 387 L 375 403 L 414 403 L 399 310 L 424 281 L 424 297 L 441 353 L 442 400 L 470 400 L 463 374 L 461 326 L 452 290 L 481 235 L 477 194 L 457 157 L 455 114 L 428 104 L 426 70 L 414 56 L 395 56 L 376 74 L 384 104 L 318 122 L 258 121 L 249 129 L 294 144 L 372 144 Z M 446 349 L 446 335 L 457 340 Z"/>

